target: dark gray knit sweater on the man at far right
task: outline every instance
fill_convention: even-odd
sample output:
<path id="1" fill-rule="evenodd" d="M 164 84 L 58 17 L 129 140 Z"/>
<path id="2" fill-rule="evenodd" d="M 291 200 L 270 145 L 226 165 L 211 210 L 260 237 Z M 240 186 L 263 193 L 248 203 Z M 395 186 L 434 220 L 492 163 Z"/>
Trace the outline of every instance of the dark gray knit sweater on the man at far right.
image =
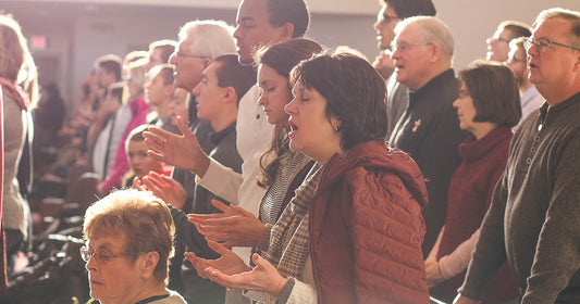
<path id="1" fill-rule="evenodd" d="M 580 303 L 580 92 L 516 132 L 461 294 L 478 299 L 506 258 L 522 302 Z"/>

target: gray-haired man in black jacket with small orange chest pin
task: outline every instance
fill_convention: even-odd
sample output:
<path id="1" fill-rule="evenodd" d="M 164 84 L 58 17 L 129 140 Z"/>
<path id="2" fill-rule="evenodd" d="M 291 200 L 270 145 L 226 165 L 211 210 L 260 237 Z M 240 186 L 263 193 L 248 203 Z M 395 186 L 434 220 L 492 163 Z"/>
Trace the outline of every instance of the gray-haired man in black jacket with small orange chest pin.
<path id="1" fill-rule="evenodd" d="M 452 68 L 454 40 L 449 28 L 432 16 L 406 18 L 395 34 L 396 79 L 409 88 L 409 104 L 397 122 L 391 122 L 395 125 L 388 143 L 409 153 L 428 180 L 422 246 L 427 257 L 445 223 L 449 181 L 461 162 L 459 143 L 467 136 L 452 105 L 459 93 Z"/>

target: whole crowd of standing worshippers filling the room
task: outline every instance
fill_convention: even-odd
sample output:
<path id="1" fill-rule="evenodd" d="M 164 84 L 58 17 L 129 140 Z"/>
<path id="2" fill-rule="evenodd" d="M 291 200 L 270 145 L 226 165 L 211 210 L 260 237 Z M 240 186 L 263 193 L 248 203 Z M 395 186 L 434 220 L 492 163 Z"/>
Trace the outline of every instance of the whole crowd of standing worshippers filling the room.
<path id="1" fill-rule="evenodd" d="M 381 3 L 370 63 L 304 38 L 305 0 L 242 0 L 98 58 L 62 126 L 1 15 L 4 288 L 35 167 L 102 304 L 580 303 L 580 12 L 503 22 L 456 74 L 431 0 Z"/>

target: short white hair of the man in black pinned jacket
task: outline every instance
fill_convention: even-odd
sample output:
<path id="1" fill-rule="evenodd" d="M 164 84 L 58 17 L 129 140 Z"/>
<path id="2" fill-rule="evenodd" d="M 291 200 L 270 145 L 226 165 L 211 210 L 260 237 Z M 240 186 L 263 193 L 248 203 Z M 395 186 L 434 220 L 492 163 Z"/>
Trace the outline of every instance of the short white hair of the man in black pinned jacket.
<path id="1" fill-rule="evenodd" d="M 395 26 L 395 35 L 403 31 L 410 24 L 420 27 L 420 35 L 424 43 L 436 43 L 441 47 L 444 59 L 453 62 L 455 42 L 449 27 L 434 16 L 414 16 L 405 18 Z"/>

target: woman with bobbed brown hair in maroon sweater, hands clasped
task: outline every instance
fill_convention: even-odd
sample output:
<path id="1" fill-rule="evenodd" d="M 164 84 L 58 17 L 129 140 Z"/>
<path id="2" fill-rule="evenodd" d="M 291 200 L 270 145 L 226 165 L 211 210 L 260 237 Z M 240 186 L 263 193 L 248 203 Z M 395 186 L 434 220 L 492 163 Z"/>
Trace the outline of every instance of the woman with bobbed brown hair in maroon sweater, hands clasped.
<path id="1" fill-rule="evenodd" d="M 483 216 L 507 162 L 511 127 L 521 117 L 520 97 L 509 67 L 474 62 L 459 73 L 461 88 L 453 103 L 459 127 L 471 132 L 459 145 L 461 165 L 449 183 L 447 217 L 425 261 L 431 295 L 452 302 L 464 281 Z M 507 265 L 488 287 L 485 303 L 503 303 L 518 296 Z"/>

